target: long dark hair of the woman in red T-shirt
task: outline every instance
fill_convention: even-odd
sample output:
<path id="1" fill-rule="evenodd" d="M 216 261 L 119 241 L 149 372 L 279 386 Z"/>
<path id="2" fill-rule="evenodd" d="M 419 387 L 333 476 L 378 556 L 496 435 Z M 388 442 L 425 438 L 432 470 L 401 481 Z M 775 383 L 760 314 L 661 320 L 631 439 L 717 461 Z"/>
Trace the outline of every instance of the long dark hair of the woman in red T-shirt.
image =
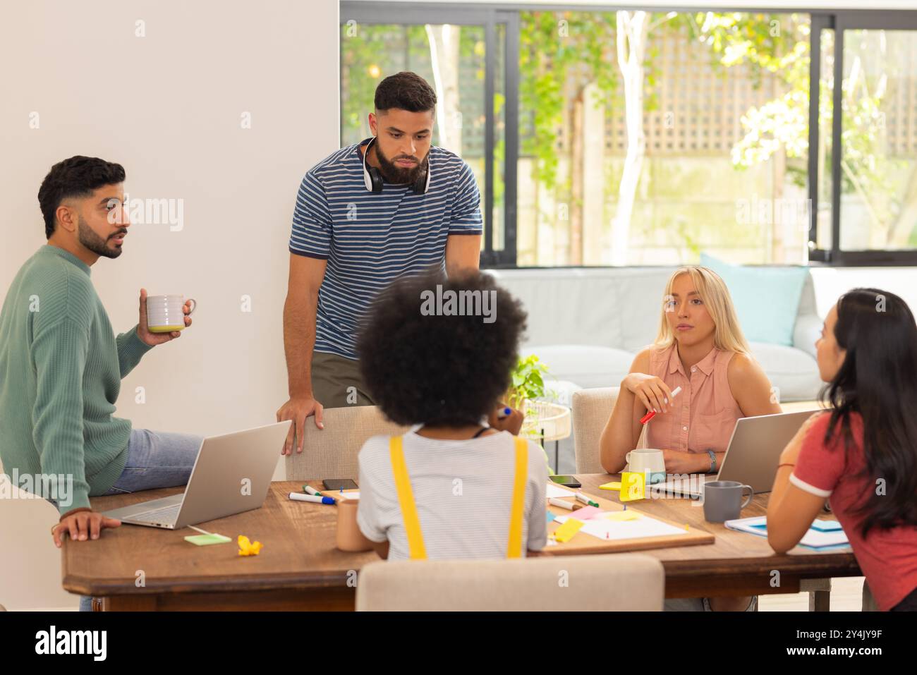
<path id="1" fill-rule="evenodd" d="M 873 527 L 917 526 L 917 325 L 908 305 L 894 293 L 855 288 L 837 301 L 834 338 L 846 350 L 834 380 L 823 391 L 833 410 L 824 435 L 856 445 L 852 413 L 863 418 L 863 453 L 870 481 L 884 479 L 856 506 L 862 534 Z"/>

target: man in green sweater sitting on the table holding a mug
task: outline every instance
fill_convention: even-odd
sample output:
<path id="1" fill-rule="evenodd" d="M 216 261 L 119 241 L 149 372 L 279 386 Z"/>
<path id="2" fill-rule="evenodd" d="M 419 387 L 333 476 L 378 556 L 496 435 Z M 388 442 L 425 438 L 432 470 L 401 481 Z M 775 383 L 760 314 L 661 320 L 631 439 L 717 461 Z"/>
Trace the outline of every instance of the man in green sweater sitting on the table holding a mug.
<path id="1" fill-rule="evenodd" d="M 201 445 L 113 416 L 121 379 L 182 335 L 149 331 L 140 289 L 138 325 L 116 337 L 95 293 L 90 268 L 121 255 L 130 226 L 124 179 L 97 158 L 51 168 L 39 189 L 48 245 L 19 269 L 0 312 L 0 460 L 19 487 L 56 503 L 58 547 L 64 534 L 96 539 L 120 525 L 92 511 L 90 495 L 183 485 Z M 187 304 L 184 313 L 191 326 Z"/>

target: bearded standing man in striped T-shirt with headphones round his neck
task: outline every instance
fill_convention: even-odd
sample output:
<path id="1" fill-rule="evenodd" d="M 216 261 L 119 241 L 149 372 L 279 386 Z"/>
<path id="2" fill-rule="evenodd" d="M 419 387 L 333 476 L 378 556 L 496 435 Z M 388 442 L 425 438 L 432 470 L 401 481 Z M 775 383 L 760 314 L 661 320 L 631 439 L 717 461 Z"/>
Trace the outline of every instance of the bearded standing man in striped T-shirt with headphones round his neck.
<path id="1" fill-rule="evenodd" d="M 481 194 L 465 161 L 431 145 L 436 93 L 414 72 L 376 88 L 372 138 L 306 172 L 293 212 L 283 344 L 292 419 L 283 454 L 303 450 L 305 418 L 372 404 L 355 344 L 375 296 L 405 275 L 477 270 Z M 418 303 L 419 307 L 419 303 Z M 460 385 L 459 382 L 456 383 Z"/>

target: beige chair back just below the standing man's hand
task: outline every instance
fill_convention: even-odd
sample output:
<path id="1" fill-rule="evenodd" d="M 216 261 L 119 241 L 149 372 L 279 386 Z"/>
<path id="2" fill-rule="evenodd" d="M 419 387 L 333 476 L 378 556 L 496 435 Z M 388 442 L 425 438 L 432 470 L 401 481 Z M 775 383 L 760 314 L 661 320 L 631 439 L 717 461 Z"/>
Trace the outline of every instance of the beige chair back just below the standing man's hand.
<path id="1" fill-rule="evenodd" d="M 306 417 L 303 452 L 294 449 L 286 458 L 287 481 L 357 480 L 357 455 L 368 438 L 396 436 L 410 428 L 388 421 L 374 405 L 329 408 L 322 421 L 325 428 L 319 429 L 313 417 Z"/>

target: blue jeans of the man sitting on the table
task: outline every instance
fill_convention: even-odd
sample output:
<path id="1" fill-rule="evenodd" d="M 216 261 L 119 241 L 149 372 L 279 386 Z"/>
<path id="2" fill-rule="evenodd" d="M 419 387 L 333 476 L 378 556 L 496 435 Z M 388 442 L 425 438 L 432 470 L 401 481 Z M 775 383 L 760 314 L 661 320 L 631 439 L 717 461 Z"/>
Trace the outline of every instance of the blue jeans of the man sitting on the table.
<path id="1" fill-rule="evenodd" d="M 201 448 L 202 437 L 131 429 L 127 462 L 108 494 L 127 494 L 187 485 Z M 91 612 L 93 599 L 80 598 L 80 611 Z"/>

